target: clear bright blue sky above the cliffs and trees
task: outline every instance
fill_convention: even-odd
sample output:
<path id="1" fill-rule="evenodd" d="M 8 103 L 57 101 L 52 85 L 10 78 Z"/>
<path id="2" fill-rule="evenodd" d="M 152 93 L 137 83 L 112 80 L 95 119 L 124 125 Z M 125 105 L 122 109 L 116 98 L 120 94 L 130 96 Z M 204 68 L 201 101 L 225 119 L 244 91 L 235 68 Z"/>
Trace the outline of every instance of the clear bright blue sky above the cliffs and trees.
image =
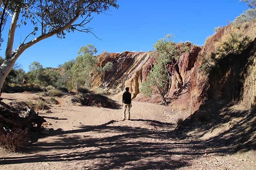
<path id="1" fill-rule="evenodd" d="M 204 45 L 207 37 L 214 34 L 214 27 L 226 26 L 243 11 L 246 4 L 239 0 L 118 0 L 119 8 L 96 15 L 87 25 L 92 34 L 69 33 L 66 39 L 56 36 L 38 42 L 26 49 L 17 62 L 27 72 L 33 61 L 43 68 L 62 65 L 76 59 L 81 46 L 93 44 L 98 53 L 122 53 L 123 51 L 150 51 L 160 38 L 173 34 L 174 42 L 190 41 Z M 5 27 L 9 29 L 9 23 Z M 17 28 L 14 49 L 28 35 L 27 28 Z M 7 34 L 0 56 L 5 56 Z M 102 40 L 100 40 L 102 39 Z"/>

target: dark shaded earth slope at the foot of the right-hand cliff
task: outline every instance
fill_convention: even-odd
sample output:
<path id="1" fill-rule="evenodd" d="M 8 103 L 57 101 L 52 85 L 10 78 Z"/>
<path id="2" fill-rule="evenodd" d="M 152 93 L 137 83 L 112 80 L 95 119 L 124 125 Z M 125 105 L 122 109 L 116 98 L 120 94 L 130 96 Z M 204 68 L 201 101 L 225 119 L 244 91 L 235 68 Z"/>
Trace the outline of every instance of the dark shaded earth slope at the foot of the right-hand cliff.
<path id="1" fill-rule="evenodd" d="M 234 106 L 234 107 L 233 107 Z M 175 133 L 191 134 L 186 137 L 202 138 L 216 129 L 220 133 L 204 140 L 213 149 L 223 153 L 256 150 L 256 110 L 239 109 L 235 102 L 209 100 L 175 129 Z M 195 133 L 197 132 L 197 134 Z"/>

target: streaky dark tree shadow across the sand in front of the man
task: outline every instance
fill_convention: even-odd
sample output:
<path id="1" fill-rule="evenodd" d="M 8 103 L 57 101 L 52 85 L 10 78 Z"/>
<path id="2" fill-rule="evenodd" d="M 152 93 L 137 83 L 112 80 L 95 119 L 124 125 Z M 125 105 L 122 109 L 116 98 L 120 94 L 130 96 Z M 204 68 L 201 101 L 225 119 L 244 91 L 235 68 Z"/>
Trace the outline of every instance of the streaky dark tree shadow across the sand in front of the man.
<path id="1" fill-rule="evenodd" d="M 81 161 L 82 169 L 173 169 L 189 166 L 190 160 L 202 156 L 209 148 L 200 140 L 176 138 L 174 124 L 143 119 L 133 122 L 154 126 L 155 130 L 121 126 L 118 121 L 70 131 L 50 129 L 50 135 L 57 138 L 54 142 L 37 142 L 28 148 L 26 156 L 3 158 L 0 163 Z M 97 137 L 92 133 L 106 135 Z M 42 152 L 48 154 L 40 155 Z M 223 150 L 215 148 L 214 152 Z"/>

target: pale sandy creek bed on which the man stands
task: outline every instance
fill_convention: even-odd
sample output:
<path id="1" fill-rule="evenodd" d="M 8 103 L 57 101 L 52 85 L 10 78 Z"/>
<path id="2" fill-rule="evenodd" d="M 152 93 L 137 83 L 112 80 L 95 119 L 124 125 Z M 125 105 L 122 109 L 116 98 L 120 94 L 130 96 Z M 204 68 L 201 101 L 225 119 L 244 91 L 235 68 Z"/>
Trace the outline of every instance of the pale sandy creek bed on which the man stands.
<path id="1" fill-rule="evenodd" d="M 37 94 L 3 93 L 3 102 L 30 100 Z M 47 123 L 22 153 L 0 154 L 0 170 L 255 170 L 252 160 L 213 150 L 200 139 L 180 139 L 173 130 L 179 112 L 163 105 L 134 102 L 131 121 L 119 109 L 76 106 L 69 96 L 51 112 L 39 111 Z M 184 117 L 183 117 L 184 118 Z"/>

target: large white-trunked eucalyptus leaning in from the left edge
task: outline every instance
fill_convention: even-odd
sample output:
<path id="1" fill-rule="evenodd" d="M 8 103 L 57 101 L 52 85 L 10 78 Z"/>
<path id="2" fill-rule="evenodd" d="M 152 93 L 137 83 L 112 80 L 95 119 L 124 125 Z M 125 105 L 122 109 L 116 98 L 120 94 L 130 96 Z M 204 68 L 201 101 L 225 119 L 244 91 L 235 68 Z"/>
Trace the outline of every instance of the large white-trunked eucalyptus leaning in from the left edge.
<path id="1" fill-rule="evenodd" d="M 0 66 L 0 88 L 16 60 L 26 49 L 54 35 L 62 39 L 66 33 L 74 31 L 93 34 L 92 28 L 86 28 L 85 25 L 93 19 L 93 14 L 105 13 L 111 7 L 118 8 L 116 2 L 117 0 L 0 0 L 0 14 L 3 18 L 0 22 L 1 39 L 4 39 L 2 29 L 7 17 L 11 19 L 5 60 Z M 16 29 L 26 27 L 29 22 L 33 25 L 30 33 L 14 49 Z M 29 28 L 26 27 L 26 30 Z"/>

